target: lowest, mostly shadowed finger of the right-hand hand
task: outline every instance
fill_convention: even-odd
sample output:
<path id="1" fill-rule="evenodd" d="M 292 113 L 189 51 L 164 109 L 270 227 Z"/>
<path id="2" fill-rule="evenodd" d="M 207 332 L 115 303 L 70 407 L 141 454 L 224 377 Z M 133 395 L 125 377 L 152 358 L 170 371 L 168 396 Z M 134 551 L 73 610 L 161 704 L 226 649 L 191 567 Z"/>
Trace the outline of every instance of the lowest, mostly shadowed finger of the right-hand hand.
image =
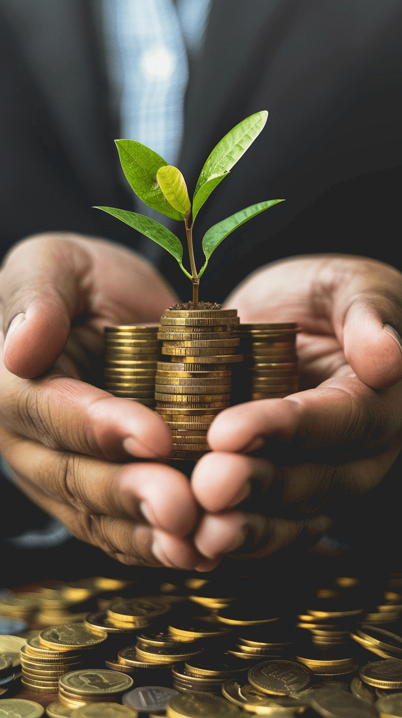
<path id="1" fill-rule="evenodd" d="M 238 558 L 262 558 L 286 549 L 300 539 L 306 546 L 311 546 L 331 526 L 332 519 L 328 516 L 292 521 L 260 513 L 232 511 L 203 516 L 194 543 L 200 554 L 209 559 L 233 551 Z"/>

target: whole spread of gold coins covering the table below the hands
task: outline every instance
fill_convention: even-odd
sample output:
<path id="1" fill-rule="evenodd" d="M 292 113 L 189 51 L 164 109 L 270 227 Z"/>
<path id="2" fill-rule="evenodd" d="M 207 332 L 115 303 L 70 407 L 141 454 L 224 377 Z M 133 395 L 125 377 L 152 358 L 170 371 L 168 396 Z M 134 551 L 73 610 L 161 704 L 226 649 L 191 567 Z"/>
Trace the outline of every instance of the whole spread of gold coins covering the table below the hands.
<path id="1" fill-rule="evenodd" d="M 401 574 L 370 595 L 358 578 L 335 577 L 308 602 L 295 595 L 291 612 L 251 579 L 240 598 L 235 582 L 197 577 L 159 592 L 145 580 L 112 580 L 107 594 L 107 579 L 84 584 L 98 608 L 84 622 L 0 635 L 2 717 L 402 716 Z M 1 600 L 21 609 L 25 596 L 32 608 L 52 590 L 74 587 L 8 592 L 0 612 Z M 0 630 L 13 621 L 0 615 Z"/>

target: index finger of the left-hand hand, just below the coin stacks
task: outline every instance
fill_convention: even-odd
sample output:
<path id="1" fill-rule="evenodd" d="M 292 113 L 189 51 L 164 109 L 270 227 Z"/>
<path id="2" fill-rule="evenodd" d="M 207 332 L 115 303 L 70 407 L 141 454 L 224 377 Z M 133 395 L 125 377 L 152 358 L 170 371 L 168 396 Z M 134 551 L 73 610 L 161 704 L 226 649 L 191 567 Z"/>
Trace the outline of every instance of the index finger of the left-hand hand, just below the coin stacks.
<path id="1" fill-rule="evenodd" d="M 172 434 L 161 416 L 77 379 L 52 374 L 26 381 L 7 374 L 0 393 L 2 426 L 54 449 L 108 460 L 161 460 L 172 452 Z"/>

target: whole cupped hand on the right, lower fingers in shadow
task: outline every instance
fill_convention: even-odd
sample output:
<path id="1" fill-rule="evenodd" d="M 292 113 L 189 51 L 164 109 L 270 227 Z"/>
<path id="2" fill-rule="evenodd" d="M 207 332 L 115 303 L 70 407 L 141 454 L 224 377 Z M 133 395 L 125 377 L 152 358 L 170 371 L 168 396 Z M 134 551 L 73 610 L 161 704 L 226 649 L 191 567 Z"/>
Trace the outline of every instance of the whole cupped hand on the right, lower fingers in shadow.
<path id="1" fill-rule="evenodd" d="M 205 509 L 200 553 L 266 556 L 303 537 L 311 544 L 347 494 L 383 480 L 402 447 L 401 297 L 396 269 L 335 255 L 264 267 L 231 294 L 226 305 L 242 322 L 301 327 L 304 391 L 213 421 L 212 453 L 192 474 Z"/>

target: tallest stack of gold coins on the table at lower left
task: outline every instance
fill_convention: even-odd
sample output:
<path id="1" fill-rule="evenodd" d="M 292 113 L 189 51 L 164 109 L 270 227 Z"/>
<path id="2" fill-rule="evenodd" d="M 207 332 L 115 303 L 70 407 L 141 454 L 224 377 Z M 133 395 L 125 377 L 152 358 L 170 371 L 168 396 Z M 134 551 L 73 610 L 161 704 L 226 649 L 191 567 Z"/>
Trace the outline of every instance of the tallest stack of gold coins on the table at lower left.
<path id="1" fill-rule="evenodd" d="M 31 638 L 21 649 L 22 685 L 35 693 L 57 693 L 63 673 L 82 665 L 82 651 L 43 648 L 39 638 Z"/>

